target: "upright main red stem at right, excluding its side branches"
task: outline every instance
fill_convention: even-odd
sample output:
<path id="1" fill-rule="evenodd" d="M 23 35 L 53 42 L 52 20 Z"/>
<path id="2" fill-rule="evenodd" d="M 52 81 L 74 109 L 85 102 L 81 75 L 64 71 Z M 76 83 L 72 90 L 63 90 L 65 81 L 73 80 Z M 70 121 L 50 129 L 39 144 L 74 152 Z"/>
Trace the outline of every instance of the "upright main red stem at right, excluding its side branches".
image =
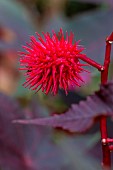
<path id="1" fill-rule="evenodd" d="M 101 72 L 101 84 L 104 84 L 108 80 L 108 69 L 110 63 L 110 53 L 111 53 L 111 43 L 106 41 L 106 52 L 104 60 L 104 70 Z M 106 117 L 102 116 L 100 119 L 100 131 L 101 131 L 101 140 L 102 140 L 102 151 L 103 151 L 103 169 L 111 169 L 111 155 L 109 150 L 109 144 L 107 142 L 108 133 L 107 133 L 107 121 Z"/>

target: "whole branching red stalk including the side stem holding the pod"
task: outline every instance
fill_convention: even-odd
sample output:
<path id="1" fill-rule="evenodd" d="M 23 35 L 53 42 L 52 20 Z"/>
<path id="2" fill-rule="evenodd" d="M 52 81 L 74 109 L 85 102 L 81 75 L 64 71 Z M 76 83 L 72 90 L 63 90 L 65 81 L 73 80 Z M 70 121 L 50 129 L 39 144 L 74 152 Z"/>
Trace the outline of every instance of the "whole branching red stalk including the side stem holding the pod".
<path id="1" fill-rule="evenodd" d="M 110 53 L 111 53 L 111 44 L 113 42 L 113 33 L 106 39 L 106 52 L 104 59 L 104 66 L 96 63 L 95 61 L 85 57 L 81 59 L 91 66 L 97 68 L 101 71 L 101 84 L 104 84 L 108 80 L 108 70 L 110 64 Z M 100 119 L 100 131 L 101 131 L 101 141 L 102 141 L 102 152 L 103 152 L 103 170 L 111 170 L 111 155 L 110 151 L 113 150 L 113 146 L 109 146 L 109 142 L 113 142 L 113 139 L 108 138 L 107 133 L 107 123 L 106 117 L 102 116 Z"/>

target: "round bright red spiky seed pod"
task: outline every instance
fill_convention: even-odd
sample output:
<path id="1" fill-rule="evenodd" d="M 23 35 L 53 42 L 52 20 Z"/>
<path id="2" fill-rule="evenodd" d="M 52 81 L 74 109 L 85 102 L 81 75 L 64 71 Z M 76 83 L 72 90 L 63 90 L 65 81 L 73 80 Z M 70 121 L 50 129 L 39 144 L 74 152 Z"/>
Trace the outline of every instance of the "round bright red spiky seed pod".
<path id="1" fill-rule="evenodd" d="M 42 89 L 48 94 L 50 91 L 56 95 L 58 88 L 68 93 L 69 84 L 80 86 L 83 81 L 80 73 L 85 71 L 79 59 L 85 56 L 81 52 L 84 50 L 79 45 L 79 41 L 74 41 L 74 34 L 64 33 L 60 29 L 58 36 L 52 31 L 52 36 L 43 33 L 45 40 L 38 34 L 38 41 L 34 36 L 30 37 L 30 43 L 23 46 L 26 52 L 20 52 L 20 65 L 24 66 L 21 70 L 26 70 L 25 87 L 38 92 Z"/>

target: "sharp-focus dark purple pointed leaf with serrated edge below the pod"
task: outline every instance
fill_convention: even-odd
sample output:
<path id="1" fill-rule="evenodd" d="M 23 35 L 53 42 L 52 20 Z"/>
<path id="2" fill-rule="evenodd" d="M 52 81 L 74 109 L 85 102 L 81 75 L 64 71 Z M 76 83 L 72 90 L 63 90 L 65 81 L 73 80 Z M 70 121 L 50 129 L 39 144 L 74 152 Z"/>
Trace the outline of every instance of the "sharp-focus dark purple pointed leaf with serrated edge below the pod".
<path id="1" fill-rule="evenodd" d="M 113 82 L 101 85 L 100 90 L 94 95 L 87 97 L 86 101 L 73 104 L 64 114 L 14 122 L 60 127 L 70 132 L 84 132 L 93 125 L 95 118 L 102 115 L 113 116 Z"/>

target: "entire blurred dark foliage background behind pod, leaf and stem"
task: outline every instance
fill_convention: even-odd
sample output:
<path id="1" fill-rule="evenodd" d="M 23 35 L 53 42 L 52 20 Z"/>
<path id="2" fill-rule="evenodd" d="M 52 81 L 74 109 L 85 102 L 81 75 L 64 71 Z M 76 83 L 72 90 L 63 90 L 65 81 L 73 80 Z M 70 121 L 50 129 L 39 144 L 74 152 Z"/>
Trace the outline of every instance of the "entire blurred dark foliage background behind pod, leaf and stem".
<path id="1" fill-rule="evenodd" d="M 87 83 L 80 89 L 70 88 L 68 96 L 63 91 L 53 97 L 46 96 L 41 91 L 34 94 L 25 89 L 22 86 L 23 73 L 18 70 L 17 52 L 29 41 L 29 36 L 35 32 L 51 32 L 52 29 L 57 32 L 60 27 L 64 31 L 72 30 L 75 39 L 82 40 L 86 54 L 102 64 L 105 38 L 113 31 L 112 18 L 111 0 L 0 1 L 1 169 L 99 170 L 101 147 L 98 124 L 94 125 L 89 135 L 71 136 L 39 126 L 14 125 L 11 121 L 17 118 L 36 118 L 54 112 L 62 113 L 72 103 L 84 100 L 86 95 L 99 88 L 100 74 L 89 67 L 91 74 Z M 112 60 L 113 53 L 110 79 L 113 77 Z M 108 120 L 108 124 L 112 137 L 112 122 Z"/>

